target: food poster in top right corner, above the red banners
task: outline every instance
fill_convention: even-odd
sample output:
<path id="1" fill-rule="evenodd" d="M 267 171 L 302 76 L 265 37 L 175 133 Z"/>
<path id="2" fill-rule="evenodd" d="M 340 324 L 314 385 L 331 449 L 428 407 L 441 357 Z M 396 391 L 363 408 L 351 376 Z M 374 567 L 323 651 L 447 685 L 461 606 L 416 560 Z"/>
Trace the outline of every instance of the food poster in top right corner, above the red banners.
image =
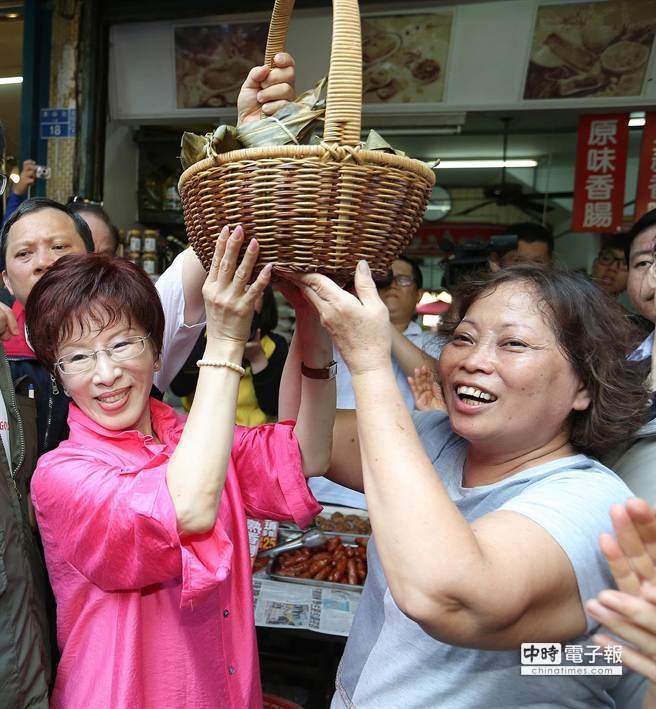
<path id="1" fill-rule="evenodd" d="M 537 8 L 525 99 L 639 96 L 656 30 L 656 0 Z"/>

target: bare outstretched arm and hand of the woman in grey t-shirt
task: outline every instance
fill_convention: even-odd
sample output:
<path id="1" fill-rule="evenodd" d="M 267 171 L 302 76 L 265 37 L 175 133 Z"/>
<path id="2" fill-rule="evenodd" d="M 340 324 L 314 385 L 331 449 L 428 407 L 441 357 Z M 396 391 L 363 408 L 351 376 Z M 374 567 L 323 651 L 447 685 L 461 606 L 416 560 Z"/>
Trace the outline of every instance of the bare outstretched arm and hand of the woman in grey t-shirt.
<path id="1" fill-rule="evenodd" d="M 443 642 L 470 647 L 581 634 L 574 570 L 546 529 L 513 512 L 470 524 L 436 475 L 395 380 L 388 313 L 367 264 L 357 298 L 317 274 L 296 280 L 352 375 L 369 515 L 399 608 Z M 487 591 L 496 585 L 503 597 Z"/>

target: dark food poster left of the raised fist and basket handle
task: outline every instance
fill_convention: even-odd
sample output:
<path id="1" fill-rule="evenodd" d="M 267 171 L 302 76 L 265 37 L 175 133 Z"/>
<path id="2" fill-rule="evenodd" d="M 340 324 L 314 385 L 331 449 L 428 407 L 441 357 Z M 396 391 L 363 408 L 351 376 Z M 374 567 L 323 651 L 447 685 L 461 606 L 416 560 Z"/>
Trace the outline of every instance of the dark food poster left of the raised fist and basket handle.
<path id="1" fill-rule="evenodd" d="M 178 108 L 222 108 L 237 103 L 248 72 L 264 63 L 266 22 L 176 27 Z"/>

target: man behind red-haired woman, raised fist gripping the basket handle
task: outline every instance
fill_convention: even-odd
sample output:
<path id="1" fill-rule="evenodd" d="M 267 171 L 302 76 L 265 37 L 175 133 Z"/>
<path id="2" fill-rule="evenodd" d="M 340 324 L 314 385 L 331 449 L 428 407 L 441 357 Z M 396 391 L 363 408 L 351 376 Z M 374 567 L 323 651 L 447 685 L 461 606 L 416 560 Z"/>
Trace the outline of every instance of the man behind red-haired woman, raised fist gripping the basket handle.
<path id="1" fill-rule="evenodd" d="M 238 98 L 239 120 L 253 120 L 269 106 L 293 98 L 294 63 L 287 54 L 276 56 L 274 69 L 251 70 Z M 94 251 L 90 228 L 76 210 L 46 198 L 23 202 L 0 233 L 3 277 L 20 312 L 34 284 L 66 254 Z M 161 367 L 154 386 L 163 393 L 193 348 L 204 326 L 202 287 L 206 272 L 191 249 L 180 254 L 158 279 L 156 288 L 166 315 Z M 10 362 L 14 381 L 33 386 L 37 409 L 39 454 L 55 448 L 67 435 L 68 398 L 55 377 L 35 359 L 20 319 L 11 344 L 21 348 Z"/>

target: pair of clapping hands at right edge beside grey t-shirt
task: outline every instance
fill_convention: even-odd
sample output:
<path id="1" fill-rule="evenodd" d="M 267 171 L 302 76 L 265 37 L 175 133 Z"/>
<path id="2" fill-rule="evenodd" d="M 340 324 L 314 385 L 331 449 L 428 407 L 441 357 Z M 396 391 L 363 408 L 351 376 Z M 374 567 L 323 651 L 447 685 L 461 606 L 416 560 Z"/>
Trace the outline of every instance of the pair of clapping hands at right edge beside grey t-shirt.
<path id="1" fill-rule="evenodd" d="M 633 645 L 623 645 L 623 664 L 656 682 L 656 512 L 635 498 L 613 505 L 611 519 L 617 538 L 602 534 L 599 545 L 619 590 L 602 591 L 586 611 Z M 604 634 L 595 642 L 618 644 Z"/>

